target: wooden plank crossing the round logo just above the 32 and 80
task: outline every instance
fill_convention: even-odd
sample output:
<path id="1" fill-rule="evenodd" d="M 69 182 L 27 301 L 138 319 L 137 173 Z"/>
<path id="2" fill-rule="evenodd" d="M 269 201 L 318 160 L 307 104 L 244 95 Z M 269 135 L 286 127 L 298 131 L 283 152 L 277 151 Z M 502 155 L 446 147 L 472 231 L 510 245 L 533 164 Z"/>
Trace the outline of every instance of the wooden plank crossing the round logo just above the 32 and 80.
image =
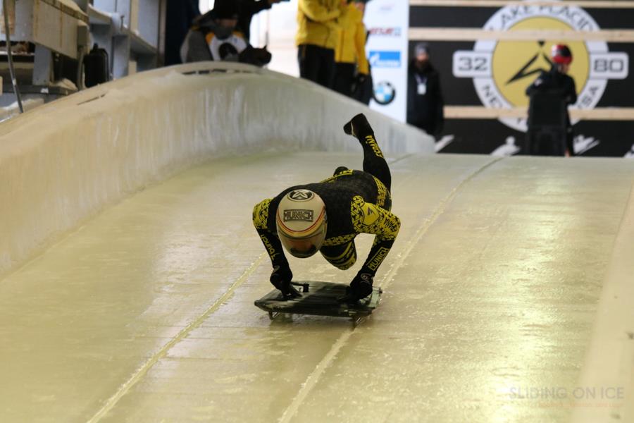
<path id="1" fill-rule="evenodd" d="M 490 31 L 481 28 L 422 28 L 409 30 L 409 39 L 418 41 L 476 41 L 495 39 L 501 41 L 535 41 L 557 39 L 560 41 L 634 42 L 634 30 L 518 30 Z"/>

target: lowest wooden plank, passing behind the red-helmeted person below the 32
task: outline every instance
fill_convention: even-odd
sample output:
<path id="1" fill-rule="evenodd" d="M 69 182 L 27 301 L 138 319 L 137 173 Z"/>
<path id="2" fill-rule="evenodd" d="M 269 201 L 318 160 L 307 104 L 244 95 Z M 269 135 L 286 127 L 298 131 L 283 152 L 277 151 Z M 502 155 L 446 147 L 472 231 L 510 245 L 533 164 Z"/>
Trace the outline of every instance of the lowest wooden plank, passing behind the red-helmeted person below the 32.
<path id="1" fill-rule="evenodd" d="M 483 106 L 445 106 L 447 119 L 526 118 L 527 114 L 526 107 L 490 109 Z M 583 121 L 634 121 L 634 107 L 571 109 L 570 116 Z"/>

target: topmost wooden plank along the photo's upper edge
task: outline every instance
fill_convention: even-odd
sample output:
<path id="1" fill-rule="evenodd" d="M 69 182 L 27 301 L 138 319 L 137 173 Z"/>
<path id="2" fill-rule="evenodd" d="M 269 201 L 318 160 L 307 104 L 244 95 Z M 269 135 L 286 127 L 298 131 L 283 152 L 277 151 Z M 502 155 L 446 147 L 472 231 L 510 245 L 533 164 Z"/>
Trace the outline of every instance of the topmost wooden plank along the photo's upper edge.
<path id="1" fill-rule="evenodd" d="M 634 1 L 503 1 L 503 0 L 409 0 L 410 6 L 499 7 L 578 6 L 581 8 L 634 8 Z"/>

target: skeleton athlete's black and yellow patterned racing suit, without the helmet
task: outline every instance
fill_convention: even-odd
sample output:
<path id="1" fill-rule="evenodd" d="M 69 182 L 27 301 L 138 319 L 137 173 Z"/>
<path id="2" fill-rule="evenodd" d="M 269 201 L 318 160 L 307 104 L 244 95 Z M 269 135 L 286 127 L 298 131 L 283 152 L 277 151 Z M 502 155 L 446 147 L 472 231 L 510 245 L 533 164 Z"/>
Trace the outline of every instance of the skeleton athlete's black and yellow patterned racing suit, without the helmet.
<path id="1" fill-rule="evenodd" d="M 354 238 L 359 233 L 376 235 L 359 274 L 374 276 L 390 252 L 401 226 L 399 218 L 390 212 L 390 168 L 369 125 L 368 129 L 359 132 L 361 135 L 356 134 L 356 137 L 363 146 L 363 171 L 337 168 L 331 178 L 287 188 L 277 197 L 263 200 L 254 207 L 253 223 L 274 268 L 288 266 L 277 235 L 275 213 L 280 200 L 288 192 L 300 188 L 315 192 L 325 204 L 328 228 L 319 251 L 330 264 L 345 270 L 356 262 Z"/>

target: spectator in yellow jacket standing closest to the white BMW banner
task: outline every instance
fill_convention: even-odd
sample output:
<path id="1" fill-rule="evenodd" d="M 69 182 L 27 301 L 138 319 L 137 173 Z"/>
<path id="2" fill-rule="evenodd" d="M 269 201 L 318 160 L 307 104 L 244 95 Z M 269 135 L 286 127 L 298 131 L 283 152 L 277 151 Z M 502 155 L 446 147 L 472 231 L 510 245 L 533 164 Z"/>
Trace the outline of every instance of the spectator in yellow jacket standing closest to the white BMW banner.
<path id="1" fill-rule="evenodd" d="M 335 48 L 334 90 L 347 97 L 352 97 L 353 87 L 363 83 L 370 74 L 366 57 L 367 32 L 363 25 L 366 1 L 350 1 L 346 25 L 339 31 Z"/>

